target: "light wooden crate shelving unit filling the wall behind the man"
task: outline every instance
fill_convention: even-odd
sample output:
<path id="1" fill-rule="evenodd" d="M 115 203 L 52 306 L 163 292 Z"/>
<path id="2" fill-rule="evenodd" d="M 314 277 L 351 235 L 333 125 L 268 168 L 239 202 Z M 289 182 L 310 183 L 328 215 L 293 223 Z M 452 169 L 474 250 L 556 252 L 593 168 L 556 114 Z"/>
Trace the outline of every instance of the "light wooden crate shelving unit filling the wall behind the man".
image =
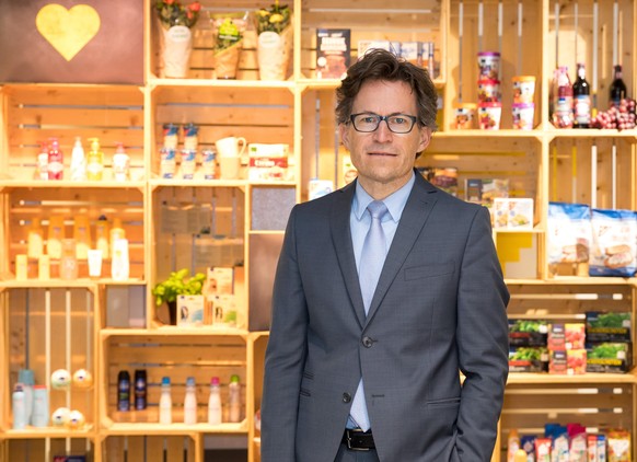
<path id="1" fill-rule="evenodd" d="M 637 209 L 637 129 L 559 130 L 548 117 L 549 81 L 556 63 L 568 65 L 572 76 L 576 62 L 587 62 L 591 83 L 593 72 L 597 74 L 597 105 L 600 109 L 607 107 L 613 63 L 613 41 L 607 35 L 613 31 L 610 2 L 609 8 L 604 3 L 597 13 L 598 33 L 605 31 L 606 35 L 599 38 L 599 59 L 593 66 L 593 8 L 599 3 L 593 0 L 577 2 L 577 21 L 574 2 L 566 0 L 405 0 L 391 5 L 381 0 L 288 0 L 283 3 L 293 10 L 294 48 L 285 81 L 258 80 L 255 37 L 250 34 L 239 79 L 217 80 L 211 35 L 204 26 L 196 33 L 188 78 L 159 78 L 158 31 L 151 3 L 143 2 L 146 83 L 0 86 L 0 460 L 23 460 L 28 450 L 32 458 L 42 454 L 43 460 L 58 452 L 78 451 L 91 454 L 96 462 L 123 461 L 125 457 L 129 461 L 143 457 L 161 460 L 164 455 L 171 462 L 200 462 L 207 439 L 228 436 L 245 441 L 250 462 L 259 461 L 255 413 L 262 396 L 271 277 L 287 213 L 293 204 L 308 199 L 311 178 L 333 180 L 337 187 L 344 182 L 346 152 L 339 146 L 334 119 L 338 81 L 315 78 L 317 27 L 350 28 L 352 59 L 357 57 L 358 41 L 363 38 L 436 43 L 433 77 L 442 96 L 442 117 L 440 131 L 417 164 L 458 168 L 461 197 L 465 177 L 499 176 L 510 178 L 512 196 L 532 197 L 535 203 L 532 230 L 494 231 L 512 293 L 510 316 L 581 320 L 590 309 L 630 311 L 637 315 L 637 278 L 553 275 L 545 256 L 549 200 Z M 265 5 L 257 0 L 201 3 L 205 12 Z M 618 59 L 624 65 L 628 94 L 634 96 L 637 61 L 632 50 L 637 43 L 633 27 L 637 2 L 616 3 L 621 13 Z M 502 129 L 453 130 L 453 104 L 461 97 L 463 102 L 477 101 L 479 50 L 498 50 L 502 56 Z M 512 129 L 510 81 L 516 74 L 536 77 L 533 130 Z M 243 136 L 248 142 L 288 143 L 293 178 L 276 183 L 163 180 L 158 148 L 162 143 L 162 125 L 169 122 L 199 125 L 201 147 L 225 136 Z M 59 137 L 65 148 L 67 173 L 74 137 L 85 140 L 99 136 L 106 152 L 105 181 L 33 180 L 37 142 L 51 136 Z M 109 158 L 116 141 L 129 147 L 132 180 L 127 183 L 114 182 L 109 176 Z M 612 146 L 616 149 L 614 158 Z M 597 161 L 591 155 L 593 147 L 598 150 Z M 593 171 L 598 178 L 594 185 Z M 277 204 L 274 208 L 273 198 Z M 198 268 L 200 262 L 193 257 L 196 233 L 166 233 L 162 207 L 208 207 L 212 203 L 217 207 L 213 234 L 235 239 L 241 249 L 234 257 L 243 266 L 238 290 L 245 325 L 221 331 L 165 326 L 162 311 L 154 305 L 152 287 L 172 269 Z M 14 280 L 15 255 L 25 253 L 27 227 L 34 218 L 63 215 L 70 232 L 72 217 L 82 213 L 92 222 L 102 213 L 121 218 L 131 242 L 128 282 L 115 282 L 108 277 L 107 259 L 103 266 L 105 277 L 96 280 L 88 278 L 84 264 L 80 266 L 79 280 L 60 281 L 55 262 L 51 280 L 37 279 L 34 262 L 30 263 L 27 281 Z M 508 269 L 510 261 L 505 254 L 511 251 L 524 253 L 521 272 Z M 109 326 L 108 290 L 137 287 L 144 293 L 144 326 Z M 83 334 L 78 338 L 80 332 Z M 633 339 L 635 344 L 635 336 Z M 636 354 L 634 347 L 633 356 Z M 177 363 L 181 368 L 175 367 Z M 51 391 L 51 407 L 68 400 L 84 411 L 85 429 L 11 429 L 11 388 L 18 370 L 26 366 L 36 371 L 38 383 L 48 380 L 47 373 L 59 367 L 68 367 L 71 372 L 80 367 L 92 370 L 92 389 L 71 390 L 68 395 Z M 150 406 L 143 414 L 123 416 L 115 409 L 116 376 L 120 369 L 132 372 L 135 368 L 149 371 Z M 227 383 L 232 373 L 239 373 L 243 384 L 243 420 L 221 427 L 202 424 L 210 376 L 218 374 Z M 163 374 L 172 376 L 176 404 L 183 401 L 185 377 L 196 376 L 200 424 L 157 423 L 155 405 Z M 511 373 L 493 460 L 505 460 L 510 429 L 541 432 L 542 423 L 547 420 L 581 421 L 593 429 L 622 426 L 635 434 L 635 371 L 583 376 Z M 175 421 L 179 421 L 178 413 Z M 637 449 L 633 457 L 637 460 Z"/>

